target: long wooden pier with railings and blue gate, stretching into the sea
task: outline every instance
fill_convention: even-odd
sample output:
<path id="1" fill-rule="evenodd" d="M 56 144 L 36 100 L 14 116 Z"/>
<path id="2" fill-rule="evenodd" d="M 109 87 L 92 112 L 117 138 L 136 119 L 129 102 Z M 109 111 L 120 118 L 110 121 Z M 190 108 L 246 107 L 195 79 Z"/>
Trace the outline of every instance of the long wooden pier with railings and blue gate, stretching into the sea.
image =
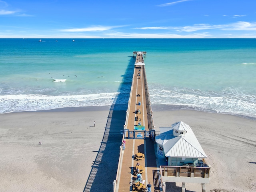
<path id="1" fill-rule="evenodd" d="M 126 122 L 124 124 L 123 140 L 125 149 L 120 146 L 120 157 L 116 180 L 113 182 L 114 192 L 146 191 L 150 182 L 152 192 L 162 191 L 159 166 L 154 145 L 154 122 L 148 94 L 144 56 L 146 52 L 133 52 L 136 56 L 134 74 L 130 92 Z M 135 154 L 142 153 L 141 160 L 135 159 Z M 140 187 L 132 184 L 137 175 L 134 173 L 136 164 L 144 168 Z M 143 190 L 144 188 L 144 190 Z"/>

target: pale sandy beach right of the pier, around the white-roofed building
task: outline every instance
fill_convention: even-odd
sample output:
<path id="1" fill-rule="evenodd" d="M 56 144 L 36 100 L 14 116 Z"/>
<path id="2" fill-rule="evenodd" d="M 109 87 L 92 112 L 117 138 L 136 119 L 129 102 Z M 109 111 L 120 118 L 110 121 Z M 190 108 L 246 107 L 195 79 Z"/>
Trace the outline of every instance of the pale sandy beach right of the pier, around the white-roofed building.
<path id="1" fill-rule="evenodd" d="M 256 191 L 256 122 L 228 114 L 193 110 L 154 111 L 156 127 L 170 127 L 183 121 L 195 133 L 211 166 L 209 192 Z M 180 191 L 181 183 L 168 184 L 168 191 Z M 186 191 L 202 191 L 200 184 L 186 183 Z"/>

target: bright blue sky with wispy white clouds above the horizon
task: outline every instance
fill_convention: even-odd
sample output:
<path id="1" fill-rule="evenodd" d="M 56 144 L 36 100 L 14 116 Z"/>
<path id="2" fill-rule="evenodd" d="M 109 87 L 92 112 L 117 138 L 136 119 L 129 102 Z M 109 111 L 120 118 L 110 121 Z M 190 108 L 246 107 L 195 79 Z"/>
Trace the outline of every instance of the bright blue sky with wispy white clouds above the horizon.
<path id="1" fill-rule="evenodd" d="M 0 38 L 256 38 L 256 0 L 0 0 Z"/>

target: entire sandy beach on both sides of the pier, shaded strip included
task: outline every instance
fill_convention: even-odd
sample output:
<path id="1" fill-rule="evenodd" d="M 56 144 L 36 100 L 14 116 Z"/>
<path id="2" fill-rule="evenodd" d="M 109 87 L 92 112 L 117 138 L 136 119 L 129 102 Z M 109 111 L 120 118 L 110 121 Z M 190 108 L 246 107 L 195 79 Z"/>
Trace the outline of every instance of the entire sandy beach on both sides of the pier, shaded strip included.
<path id="1" fill-rule="evenodd" d="M 112 191 L 125 114 L 109 107 L 0 114 L 0 191 Z M 256 191 L 254 120 L 154 107 L 153 118 L 156 129 L 190 125 L 212 168 L 207 191 Z M 168 184 L 167 191 L 180 186 Z M 186 191 L 201 185 L 186 184 Z"/>

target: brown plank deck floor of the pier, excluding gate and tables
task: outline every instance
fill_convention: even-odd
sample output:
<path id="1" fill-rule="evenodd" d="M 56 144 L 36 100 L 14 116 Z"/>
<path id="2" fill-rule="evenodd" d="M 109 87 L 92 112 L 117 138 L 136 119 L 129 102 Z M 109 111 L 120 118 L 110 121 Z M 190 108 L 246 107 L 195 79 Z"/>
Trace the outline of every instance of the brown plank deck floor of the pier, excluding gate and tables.
<path id="1" fill-rule="evenodd" d="M 137 54 L 136 63 L 142 62 L 143 54 Z M 145 130 L 148 131 L 152 129 L 152 123 L 150 123 L 150 128 L 148 122 L 152 122 L 151 107 L 148 104 L 148 93 L 146 85 L 146 74 L 144 66 L 134 67 L 133 83 L 130 92 L 130 101 L 126 116 L 125 128 L 134 131 L 134 126 L 141 122 L 142 126 L 145 126 Z M 140 95 L 140 96 L 138 96 Z M 138 102 L 141 104 L 138 105 Z M 149 105 L 149 106 L 148 106 Z M 140 109 L 140 113 L 136 113 L 136 110 Z M 149 111 L 150 110 L 150 111 Z M 150 113 L 150 115 L 148 115 Z M 138 118 L 137 118 L 138 116 Z M 149 118 L 151 118 L 149 120 Z M 138 120 L 137 120 L 138 119 Z M 125 150 L 120 150 L 120 161 L 119 161 L 119 171 L 117 172 L 116 180 L 116 192 L 128 192 L 128 191 L 138 191 L 133 189 L 130 182 L 136 179 L 136 175 L 133 174 L 134 167 L 137 162 L 141 166 L 145 167 L 145 172 L 142 173 L 142 178 L 145 180 L 145 185 L 149 182 L 152 185 L 151 191 L 158 192 L 161 189 L 160 182 L 160 172 L 159 167 L 156 162 L 156 153 L 154 148 L 154 141 L 147 139 L 126 139 Z M 142 160 L 135 160 L 134 154 L 141 152 L 145 155 Z"/>

